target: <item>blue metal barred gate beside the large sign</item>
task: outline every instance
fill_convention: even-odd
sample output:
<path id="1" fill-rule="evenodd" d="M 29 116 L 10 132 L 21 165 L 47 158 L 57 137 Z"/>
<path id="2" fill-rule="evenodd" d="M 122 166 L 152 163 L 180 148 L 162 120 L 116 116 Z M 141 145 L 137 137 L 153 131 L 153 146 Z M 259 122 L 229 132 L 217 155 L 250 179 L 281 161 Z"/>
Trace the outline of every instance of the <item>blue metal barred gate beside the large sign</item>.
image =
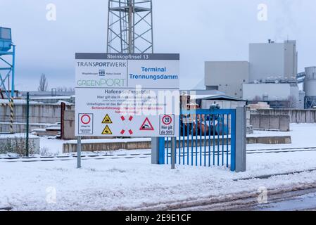
<path id="1" fill-rule="evenodd" d="M 179 118 L 176 164 L 235 171 L 236 110 L 182 111 Z M 159 146 L 159 164 L 170 164 L 171 138 L 160 138 Z"/>

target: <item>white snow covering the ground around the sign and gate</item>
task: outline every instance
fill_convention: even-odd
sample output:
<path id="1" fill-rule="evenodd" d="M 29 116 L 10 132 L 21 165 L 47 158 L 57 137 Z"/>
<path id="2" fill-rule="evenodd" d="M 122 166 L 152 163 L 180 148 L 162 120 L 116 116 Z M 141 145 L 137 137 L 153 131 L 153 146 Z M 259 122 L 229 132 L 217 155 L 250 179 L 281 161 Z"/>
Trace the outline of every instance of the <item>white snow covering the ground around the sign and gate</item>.
<path id="1" fill-rule="evenodd" d="M 316 124 L 291 124 L 291 131 L 286 133 L 292 135 L 291 145 L 249 145 L 247 148 L 316 147 Z M 52 149 L 61 147 L 62 143 L 46 140 L 44 144 Z M 224 167 L 177 166 L 171 170 L 169 165 L 151 165 L 151 158 L 91 158 L 82 161 L 82 166 L 76 169 L 75 160 L 0 162 L 0 208 L 132 210 L 180 200 L 253 193 L 260 187 L 287 188 L 316 183 L 316 172 L 236 181 L 315 169 L 316 151 L 247 155 L 247 172 L 239 174 Z"/>

